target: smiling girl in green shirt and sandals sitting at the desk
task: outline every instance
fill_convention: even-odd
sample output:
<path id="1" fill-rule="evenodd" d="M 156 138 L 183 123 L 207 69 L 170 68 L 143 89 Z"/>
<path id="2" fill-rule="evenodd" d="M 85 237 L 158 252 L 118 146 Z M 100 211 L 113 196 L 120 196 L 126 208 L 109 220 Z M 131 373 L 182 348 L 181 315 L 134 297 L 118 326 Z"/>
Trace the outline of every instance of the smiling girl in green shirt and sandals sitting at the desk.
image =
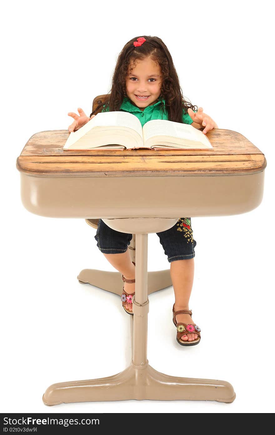
<path id="1" fill-rule="evenodd" d="M 127 42 L 119 54 L 105 104 L 99 104 L 90 117 L 81 108 L 78 108 L 79 115 L 68 113 L 74 119 L 68 130 L 79 129 L 96 116 L 95 112 L 118 110 L 138 117 L 142 127 L 149 120 L 164 119 L 204 128 L 204 134 L 212 128 L 218 128 L 215 121 L 203 113 L 202 107 L 199 110 L 195 110 L 195 107 L 182 97 L 171 54 L 162 40 L 151 36 L 138 37 Z M 182 346 L 197 345 L 201 330 L 192 322 L 192 311 L 189 311 L 196 246 L 191 220 L 180 218 L 174 227 L 157 235 L 170 263 L 175 292 L 172 311 L 177 341 Z M 110 264 L 122 273 L 125 283 L 122 305 L 127 313 L 133 315 L 135 264 L 132 263 L 128 250 L 132 234 L 112 230 L 100 219 L 95 239 L 97 247 Z"/>

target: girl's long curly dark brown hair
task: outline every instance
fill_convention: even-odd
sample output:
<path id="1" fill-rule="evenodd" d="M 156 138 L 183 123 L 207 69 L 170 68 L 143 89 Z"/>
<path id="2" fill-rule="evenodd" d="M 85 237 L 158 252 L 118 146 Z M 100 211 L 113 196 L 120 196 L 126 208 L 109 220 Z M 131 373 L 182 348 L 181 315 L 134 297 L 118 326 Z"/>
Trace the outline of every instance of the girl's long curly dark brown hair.
<path id="1" fill-rule="evenodd" d="M 126 76 L 128 74 L 130 61 L 144 60 L 150 57 L 152 60 L 159 63 L 162 74 L 162 87 L 160 100 L 165 100 L 165 107 L 168 114 L 169 121 L 182 123 L 182 109 L 187 112 L 191 107 L 192 110 L 198 110 L 197 106 L 193 106 L 190 102 L 186 101 L 182 96 L 182 89 L 179 85 L 179 77 L 176 68 L 173 64 L 171 54 L 165 43 L 156 36 L 144 35 L 146 39 L 140 47 L 135 47 L 133 42 L 137 40 L 135 37 L 125 44 L 116 61 L 116 67 L 113 73 L 111 90 L 107 94 L 105 102 L 99 104 L 96 109 L 90 114 L 92 116 L 95 112 L 98 113 L 103 104 L 109 107 L 109 111 L 119 111 L 123 102 L 123 98 L 127 97 L 126 94 Z M 162 110 L 164 105 L 161 103 Z M 196 109 L 195 109 L 196 107 Z"/>

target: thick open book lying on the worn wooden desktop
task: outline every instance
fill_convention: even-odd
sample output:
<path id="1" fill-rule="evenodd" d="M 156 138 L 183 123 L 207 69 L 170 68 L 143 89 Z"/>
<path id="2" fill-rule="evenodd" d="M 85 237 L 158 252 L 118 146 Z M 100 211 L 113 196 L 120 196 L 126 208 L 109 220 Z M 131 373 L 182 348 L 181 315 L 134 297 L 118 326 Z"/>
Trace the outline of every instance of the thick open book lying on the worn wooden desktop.
<path id="1" fill-rule="evenodd" d="M 134 150 L 136 148 L 202 150 L 213 148 L 202 131 L 189 124 L 152 120 L 142 127 L 128 112 L 100 112 L 71 132 L 63 150 Z"/>

